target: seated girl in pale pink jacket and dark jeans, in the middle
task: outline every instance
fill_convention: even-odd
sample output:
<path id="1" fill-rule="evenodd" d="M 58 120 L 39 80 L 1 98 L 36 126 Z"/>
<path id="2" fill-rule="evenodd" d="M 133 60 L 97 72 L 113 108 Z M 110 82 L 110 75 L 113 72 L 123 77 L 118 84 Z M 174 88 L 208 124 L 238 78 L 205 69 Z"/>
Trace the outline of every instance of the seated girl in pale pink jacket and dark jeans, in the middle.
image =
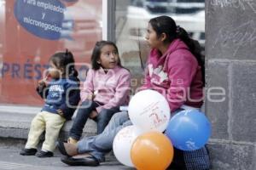
<path id="1" fill-rule="evenodd" d="M 97 133 L 102 133 L 113 114 L 119 112 L 119 106 L 129 101 L 131 74 L 121 65 L 113 42 L 96 42 L 91 65 L 81 89 L 82 104 L 70 129 L 70 143 L 80 139 L 89 117 L 97 122 Z"/>

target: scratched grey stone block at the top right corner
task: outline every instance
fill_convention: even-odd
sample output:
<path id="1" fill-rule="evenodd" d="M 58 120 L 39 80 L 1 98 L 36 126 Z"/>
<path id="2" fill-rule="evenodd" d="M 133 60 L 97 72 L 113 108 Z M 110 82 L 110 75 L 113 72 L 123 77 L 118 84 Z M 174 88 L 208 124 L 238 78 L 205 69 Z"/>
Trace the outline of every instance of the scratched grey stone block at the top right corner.
<path id="1" fill-rule="evenodd" d="M 256 3 L 206 1 L 206 51 L 211 59 L 255 59 Z"/>

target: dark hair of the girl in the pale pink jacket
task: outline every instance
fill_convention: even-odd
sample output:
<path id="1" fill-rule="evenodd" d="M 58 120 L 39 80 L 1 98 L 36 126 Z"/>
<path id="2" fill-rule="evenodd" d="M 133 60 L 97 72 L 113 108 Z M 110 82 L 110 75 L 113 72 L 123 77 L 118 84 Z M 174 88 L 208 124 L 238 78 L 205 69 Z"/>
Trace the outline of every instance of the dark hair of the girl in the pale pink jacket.
<path id="1" fill-rule="evenodd" d="M 91 58 L 90 58 L 91 66 L 92 66 L 93 70 L 98 70 L 101 67 L 101 65 L 98 64 L 97 61 L 100 59 L 101 54 L 102 54 L 102 48 L 105 45 L 112 45 L 116 49 L 117 53 L 119 54 L 119 50 L 118 50 L 118 48 L 117 48 L 117 46 L 115 45 L 114 42 L 110 42 L 110 41 L 99 41 L 99 42 L 96 42 L 95 47 L 93 48 L 93 51 L 92 51 L 92 54 L 91 54 Z M 120 67 L 123 67 L 121 65 L 120 59 L 118 60 L 118 65 Z"/>

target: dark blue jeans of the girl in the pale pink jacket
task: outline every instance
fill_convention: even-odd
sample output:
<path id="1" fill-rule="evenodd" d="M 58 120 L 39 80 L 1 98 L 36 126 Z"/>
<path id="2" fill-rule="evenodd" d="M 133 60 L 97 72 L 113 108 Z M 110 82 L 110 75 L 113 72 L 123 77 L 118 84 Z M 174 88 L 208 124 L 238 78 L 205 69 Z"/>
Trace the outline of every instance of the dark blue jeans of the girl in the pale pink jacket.
<path id="1" fill-rule="evenodd" d="M 83 133 L 83 128 L 90 116 L 91 111 L 96 111 L 96 107 L 102 105 L 95 101 L 85 100 L 80 106 L 77 116 L 74 119 L 73 126 L 70 129 L 69 136 L 73 139 L 79 140 Z M 97 133 L 102 133 L 104 128 L 108 125 L 114 113 L 119 112 L 119 107 L 111 109 L 102 109 L 98 116 L 93 120 L 97 122 Z"/>

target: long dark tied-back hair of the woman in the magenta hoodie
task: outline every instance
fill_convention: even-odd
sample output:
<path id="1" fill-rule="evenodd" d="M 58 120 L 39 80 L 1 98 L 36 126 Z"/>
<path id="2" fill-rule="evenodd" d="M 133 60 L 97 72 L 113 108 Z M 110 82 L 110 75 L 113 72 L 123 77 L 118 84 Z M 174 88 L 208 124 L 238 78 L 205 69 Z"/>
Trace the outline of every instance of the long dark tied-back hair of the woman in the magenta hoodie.
<path id="1" fill-rule="evenodd" d="M 182 27 L 176 26 L 174 20 L 169 16 L 159 16 L 149 20 L 157 36 L 160 37 L 162 33 L 166 33 L 166 42 L 172 42 L 176 38 L 180 38 L 189 47 L 190 52 L 195 56 L 199 65 L 201 65 L 202 81 L 205 84 L 205 62 L 204 56 L 201 54 L 201 47 L 199 42 L 189 37 L 187 31 Z"/>

